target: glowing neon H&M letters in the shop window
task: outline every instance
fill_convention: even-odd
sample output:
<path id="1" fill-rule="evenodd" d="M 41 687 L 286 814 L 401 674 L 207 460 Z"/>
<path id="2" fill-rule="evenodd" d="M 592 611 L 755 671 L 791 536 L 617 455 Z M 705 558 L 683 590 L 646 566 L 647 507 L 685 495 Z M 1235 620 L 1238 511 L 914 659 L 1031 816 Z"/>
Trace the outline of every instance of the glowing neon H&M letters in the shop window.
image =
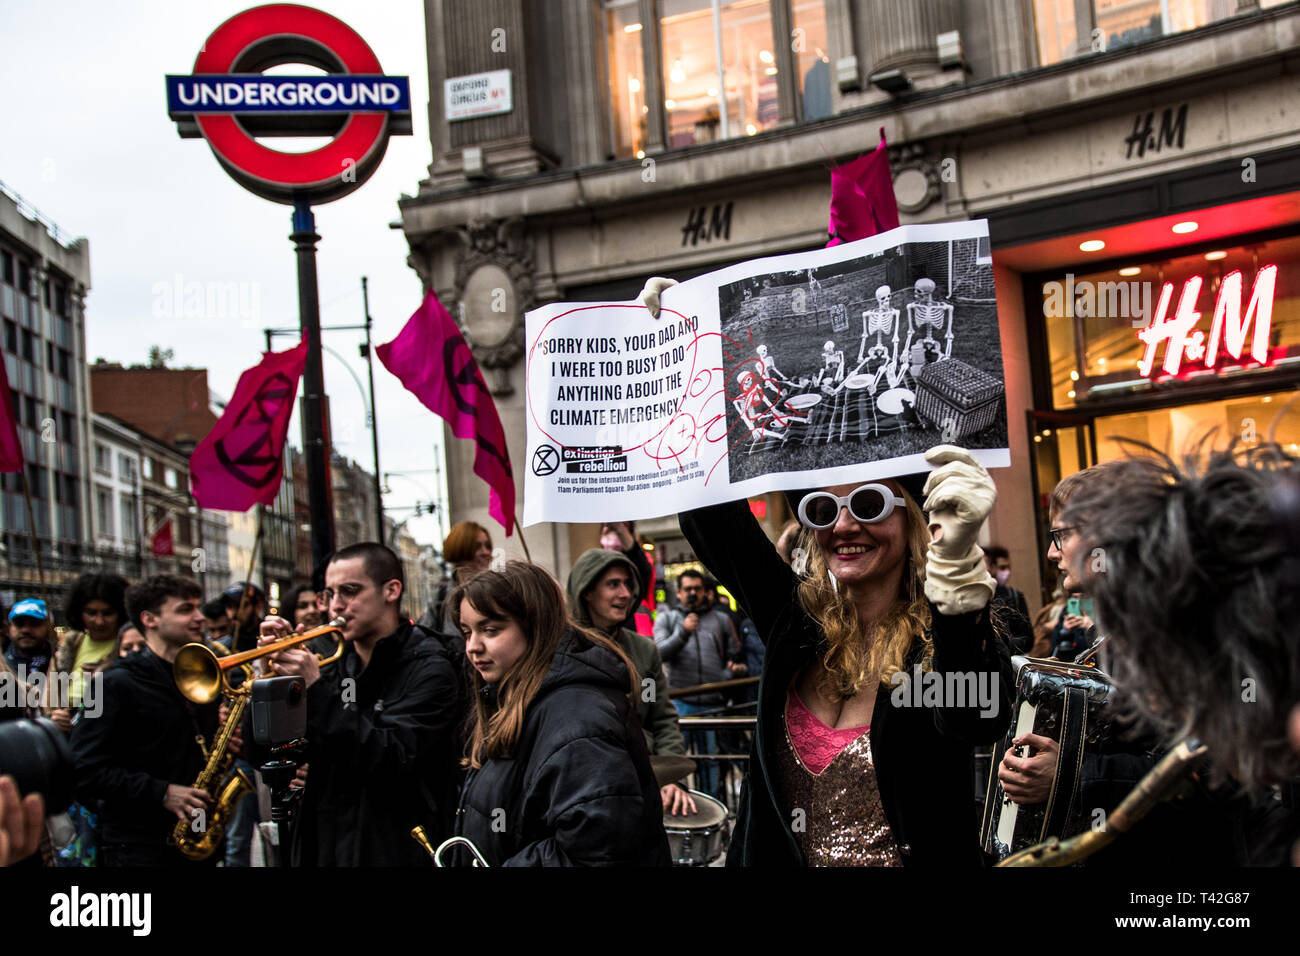
<path id="1" fill-rule="evenodd" d="M 1273 293 L 1278 284 L 1278 267 L 1265 265 L 1256 273 L 1244 316 L 1242 284 L 1240 272 L 1230 272 L 1219 282 L 1210 336 L 1206 341 L 1204 333 L 1196 328 L 1201 320 L 1201 313 L 1196 310 L 1196 300 L 1201 294 L 1201 277 L 1192 276 L 1183 282 L 1183 293 L 1178 297 L 1178 311 L 1173 316 L 1169 315 L 1169 306 L 1174 299 L 1174 284 L 1166 282 L 1160 291 L 1156 317 L 1138 333 L 1138 338 L 1147 343 L 1147 354 L 1138 363 L 1138 373 L 1144 378 L 1150 377 L 1156 350 L 1161 342 L 1165 342 L 1165 363 L 1161 368 L 1167 375 L 1178 375 L 1184 356 L 1190 362 L 1201 362 L 1206 369 L 1214 371 L 1221 346 L 1234 359 L 1240 360 L 1252 325 L 1254 334 L 1251 339 L 1249 358 L 1261 365 L 1269 364 L 1269 332 L 1273 328 Z"/>

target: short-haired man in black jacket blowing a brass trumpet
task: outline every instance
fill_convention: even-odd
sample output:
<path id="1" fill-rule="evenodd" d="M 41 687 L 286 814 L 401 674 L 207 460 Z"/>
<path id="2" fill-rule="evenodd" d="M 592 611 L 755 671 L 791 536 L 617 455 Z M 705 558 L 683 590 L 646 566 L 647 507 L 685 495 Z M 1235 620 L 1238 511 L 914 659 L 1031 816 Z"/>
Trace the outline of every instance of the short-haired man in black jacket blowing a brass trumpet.
<path id="1" fill-rule="evenodd" d="M 326 666 L 300 648 L 272 656 L 307 682 L 307 791 L 292 858 L 300 866 L 428 866 L 411 829 L 451 835 L 465 713 L 463 672 L 439 635 L 402 615 L 402 562 L 380 544 L 337 551 L 325 571 L 329 618 L 343 619 L 343 657 Z M 263 622 L 263 641 L 292 632 Z"/>

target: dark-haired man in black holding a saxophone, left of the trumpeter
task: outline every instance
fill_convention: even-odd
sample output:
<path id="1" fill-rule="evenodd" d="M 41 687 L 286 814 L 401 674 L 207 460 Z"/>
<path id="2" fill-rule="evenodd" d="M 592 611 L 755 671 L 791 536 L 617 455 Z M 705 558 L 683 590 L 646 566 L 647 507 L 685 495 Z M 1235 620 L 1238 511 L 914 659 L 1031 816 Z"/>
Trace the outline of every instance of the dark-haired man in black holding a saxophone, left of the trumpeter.
<path id="1" fill-rule="evenodd" d="M 155 575 L 126 592 L 144 648 L 104 671 L 99 717 L 73 724 L 77 800 L 99 809 L 104 866 L 183 866 L 168 845 L 177 819 L 200 825 L 211 800 L 190 784 L 204 766 L 196 736 L 212 741 L 217 704 L 187 701 L 172 679 L 186 644 L 203 641 L 203 593 L 194 581 Z M 214 865 L 213 853 L 200 865 Z"/>

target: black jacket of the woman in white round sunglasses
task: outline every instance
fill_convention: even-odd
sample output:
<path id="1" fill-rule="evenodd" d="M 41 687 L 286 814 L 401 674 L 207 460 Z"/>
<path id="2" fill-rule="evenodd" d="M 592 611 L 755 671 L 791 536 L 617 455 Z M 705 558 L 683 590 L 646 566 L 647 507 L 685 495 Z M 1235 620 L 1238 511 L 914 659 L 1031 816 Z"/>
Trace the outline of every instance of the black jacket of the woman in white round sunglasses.
<path id="1" fill-rule="evenodd" d="M 736 596 L 767 643 L 754 745 L 727 865 L 802 866 L 775 757 L 784 735 L 786 689 L 818 657 L 823 635 L 800 606 L 794 572 L 746 502 L 688 511 L 679 520 L 696 554 Z M 993 713 L 982 717 L 979 706 L 893 706 L 893 695 L 881 687 L 871 715 L 871 753 L 880 801 L 905 864 L 974 868 L 982 856 L 971 814 L 972 747 L 997 740 L 1010 721 L 1010 656 L 993 632 L 987 607 L 954 617 L 933 607 L 931 613 L 935 671 L 992 674 Z M 911 666 L 909 661 L 909 674 Z"/>

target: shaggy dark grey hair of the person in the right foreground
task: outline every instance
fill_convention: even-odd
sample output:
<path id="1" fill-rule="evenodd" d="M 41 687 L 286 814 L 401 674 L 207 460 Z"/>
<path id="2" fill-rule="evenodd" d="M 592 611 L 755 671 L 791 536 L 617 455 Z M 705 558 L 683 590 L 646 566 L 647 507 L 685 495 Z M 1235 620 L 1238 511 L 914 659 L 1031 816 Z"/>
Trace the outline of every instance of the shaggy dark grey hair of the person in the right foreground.
<path id="1" fill-rule="evenodd" d="M 1221 774 L 1260 792 L 1300 771 L 1286 731 L 1300 698 L 1300 553 L 1278 506 L 1300 462 L 1271 444 L 1206 444 L 1182 466 L 1132 444 L 1145 455 L 1113 462 L 1062 516 L 1088 549 L 1117 717 L 1199 739 Z"/>

